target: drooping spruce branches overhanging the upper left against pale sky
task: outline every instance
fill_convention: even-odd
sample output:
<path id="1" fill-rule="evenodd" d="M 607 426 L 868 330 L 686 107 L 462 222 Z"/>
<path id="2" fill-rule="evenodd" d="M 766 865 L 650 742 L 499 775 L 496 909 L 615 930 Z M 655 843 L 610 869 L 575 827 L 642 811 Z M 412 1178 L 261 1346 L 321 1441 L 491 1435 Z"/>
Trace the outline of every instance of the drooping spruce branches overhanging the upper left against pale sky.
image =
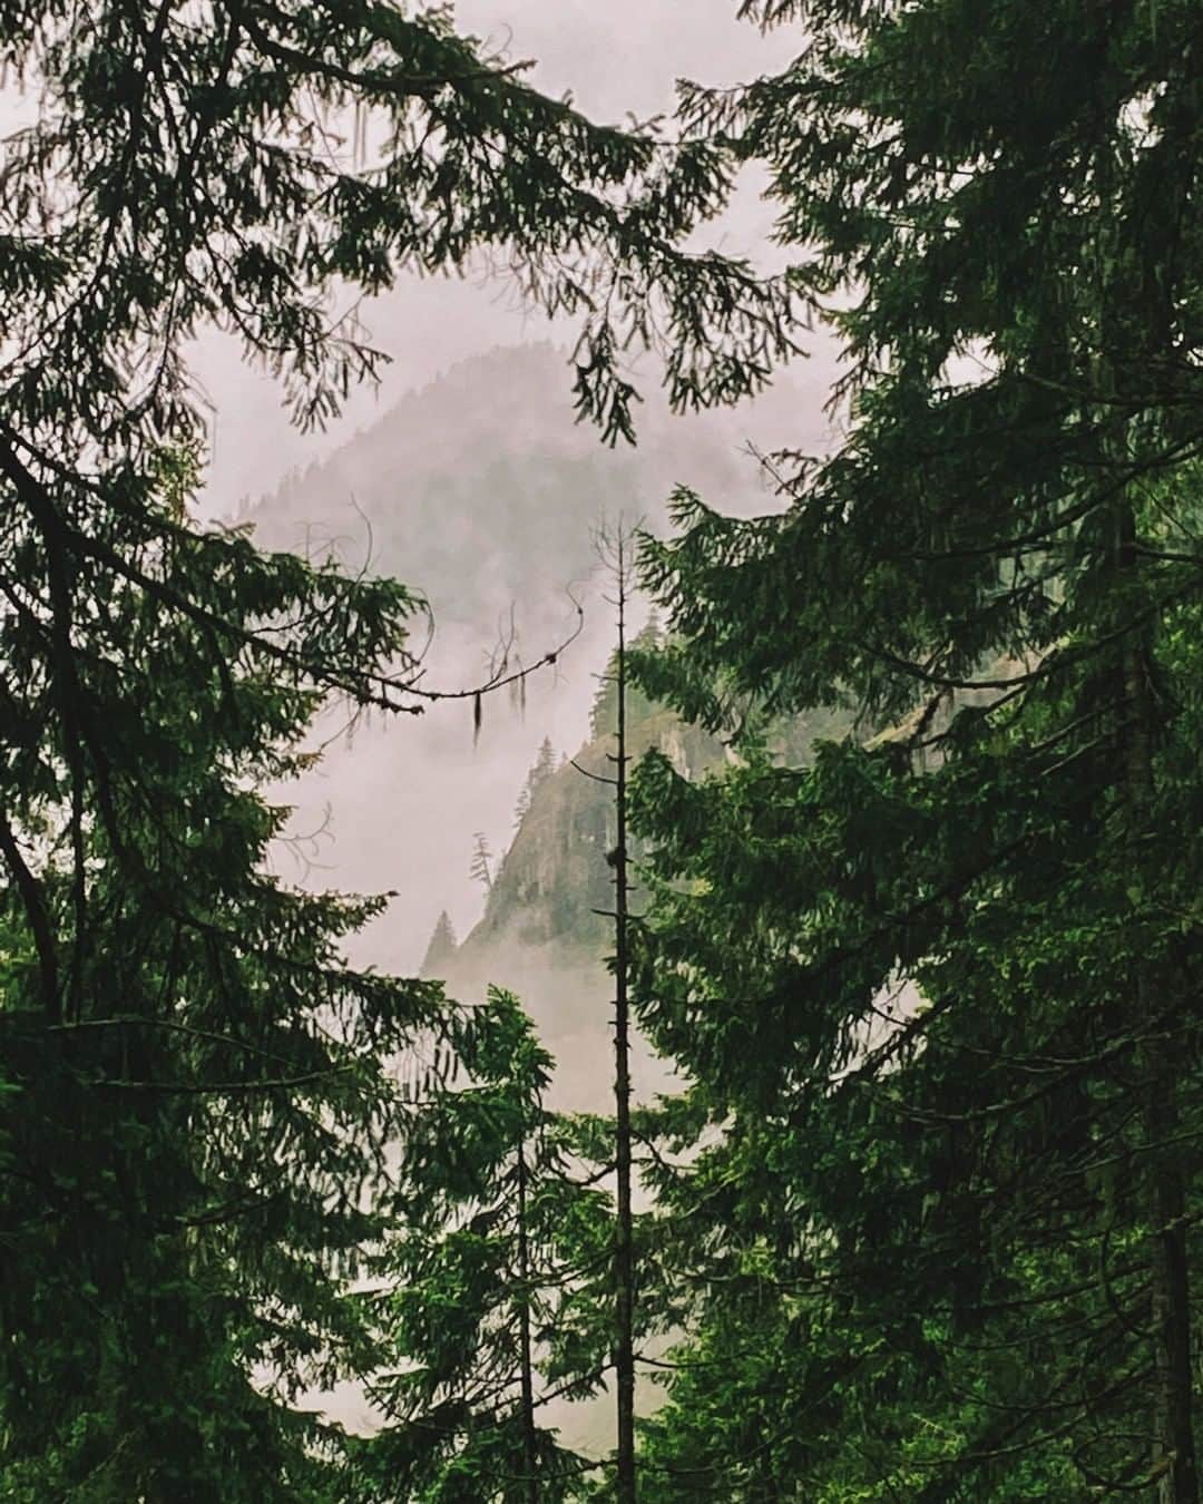
<path id="1" fill-rule="evenodd" d="M 788 349 L 788 289 L 675 247 L 726 191 L 729 152 L 589 123 L 444 8 L 253 0 L 147 18 L 108 0 L 89 21 L 21 5 L 0 23 L 45 104 L 0 194 L 3 323 L 26 352 L 9 421 L 27 444 L 60 406 L 117 448 L 192 427 L 180 341 L 208 320 L 283 379 L 299 421 L 326 421 L 382 359 L 335 289 L 379 293 L 480 248 L 583 317 L 577 399 L 609 436 L 630 432 L 615 362 L 632 340 L 669 352 L 678 405 L 753 390 Z M 716 350 L 702 317 L 731 307 L 744 329 Z"/>

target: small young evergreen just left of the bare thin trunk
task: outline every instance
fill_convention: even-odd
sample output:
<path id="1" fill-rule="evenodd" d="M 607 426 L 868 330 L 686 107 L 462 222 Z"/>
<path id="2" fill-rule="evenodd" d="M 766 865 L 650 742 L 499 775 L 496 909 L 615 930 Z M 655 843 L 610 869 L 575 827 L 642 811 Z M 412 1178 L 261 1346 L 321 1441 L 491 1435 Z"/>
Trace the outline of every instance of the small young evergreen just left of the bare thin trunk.
<path id="1" fill-rule="evenodd" d="M 597 1128 L 546 1107 L 552 1060 L 511 994 L 490 988 L 450 1044 L 460 1075 L 414 1116 L 377 1260 L 388 1424 L 358 1486 L 406 1504 L 582 1498 L 589 1463 L 540 1418 L 608 1367 L 611 1208 L 582 1167 Z"/>

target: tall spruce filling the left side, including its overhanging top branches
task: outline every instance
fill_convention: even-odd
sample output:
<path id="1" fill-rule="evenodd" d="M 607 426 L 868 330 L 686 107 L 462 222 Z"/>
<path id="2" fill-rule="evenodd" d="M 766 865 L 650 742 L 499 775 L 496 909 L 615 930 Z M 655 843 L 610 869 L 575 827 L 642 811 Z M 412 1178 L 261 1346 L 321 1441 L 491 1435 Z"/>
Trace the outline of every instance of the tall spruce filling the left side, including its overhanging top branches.
<path id="1" fill-rule="evenodd" d="M 579 317 L 614 438 L 629 337 L 722 397 L 788 298 L 675 248 L 729 152 L 594 126 L 444 11 L 18 3 L 0 59 L 35 104 L 0 173 L 5 1490 L 298 1498 L 314 1423 L 250 1375 L 370 1366 L 340 1275 L 435 993 L 343 966 L 373 905 L 268 880 L 251 788 L 329 695 L 418 708 L 420 602 L 195 522 L 189 341 L 233 334 L 323 423 L 382 359 L 341 292 L 498 250 Z"/>

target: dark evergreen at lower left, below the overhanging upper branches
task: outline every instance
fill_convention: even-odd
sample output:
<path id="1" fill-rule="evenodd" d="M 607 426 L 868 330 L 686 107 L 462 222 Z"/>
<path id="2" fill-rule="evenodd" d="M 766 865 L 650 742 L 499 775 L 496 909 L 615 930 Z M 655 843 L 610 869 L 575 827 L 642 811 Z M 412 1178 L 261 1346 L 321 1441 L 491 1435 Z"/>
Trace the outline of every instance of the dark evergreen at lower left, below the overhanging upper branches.
<path id="1" fill-rule="evenodd" d="M 125 553 L 150 588 L 102 585 L 86 555 L 56 576 L 102 603 L 86 635 L 48 606 L 42 644 L 33 587 L 3 623 L 14 1499 L 313 1495 L 337 1436 L 292 1402 L 362 1360 L 340 1286 L 379 1232 L 373 1190 L 402 1126 L 385 1062 L 441 1011 L 438 987 L 340 958 L 380 902 L 266 874 L 287 811 L 256 793 L 310 761 L 298 746 L 326 684 L 299 665 L 320 623 L 331 668 L 340 654 L 370 674 L 405 662 L 412 597 L 239 538 L 164 546 L 158 520 Z M 208 629 L 159 590 L 242 635 L 220 674 Z"/>

